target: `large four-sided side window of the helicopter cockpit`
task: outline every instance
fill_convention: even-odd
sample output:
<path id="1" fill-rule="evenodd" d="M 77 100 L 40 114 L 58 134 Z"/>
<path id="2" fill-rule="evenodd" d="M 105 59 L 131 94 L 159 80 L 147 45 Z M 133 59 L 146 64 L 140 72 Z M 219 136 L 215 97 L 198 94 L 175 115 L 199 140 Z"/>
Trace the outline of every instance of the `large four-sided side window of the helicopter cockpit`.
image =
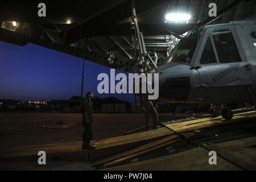
<path id="1" fill-rule="evenodd" d="M 220 63 L 233 63 L 242 61 L 231 31 L 214 31 L 212 32 L 212 37 Z"/>

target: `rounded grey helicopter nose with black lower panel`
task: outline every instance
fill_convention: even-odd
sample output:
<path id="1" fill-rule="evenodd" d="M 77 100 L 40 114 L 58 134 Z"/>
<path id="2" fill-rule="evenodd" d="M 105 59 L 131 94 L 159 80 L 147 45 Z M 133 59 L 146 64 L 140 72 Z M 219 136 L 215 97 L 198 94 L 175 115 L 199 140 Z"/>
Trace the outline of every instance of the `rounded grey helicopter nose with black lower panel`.
<path id="1" fill-rule="evenodd" d="M 169 68 L 158 69 L 159 99 L 186 101 L 191 88 L 192 72 L 188 65 L 173 64 Z"/>

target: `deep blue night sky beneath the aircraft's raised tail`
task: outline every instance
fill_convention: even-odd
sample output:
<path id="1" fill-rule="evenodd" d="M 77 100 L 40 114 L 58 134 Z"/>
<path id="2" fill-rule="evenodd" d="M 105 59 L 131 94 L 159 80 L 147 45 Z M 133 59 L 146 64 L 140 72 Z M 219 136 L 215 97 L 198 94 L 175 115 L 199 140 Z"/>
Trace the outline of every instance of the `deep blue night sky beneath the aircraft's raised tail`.
<path id="1" fill-rule="evenodd" d="M 82 61 L 34 44 L 16 46 L 0 42 L 0 100 L 48 101 L 80 96 Z M 99 94 L 100 73 L 109 75 L 110 68 L 85 61 L 84 96 L 92 91 L 101 98 L 114 96 L 134 102 L 133 94 Z"/>

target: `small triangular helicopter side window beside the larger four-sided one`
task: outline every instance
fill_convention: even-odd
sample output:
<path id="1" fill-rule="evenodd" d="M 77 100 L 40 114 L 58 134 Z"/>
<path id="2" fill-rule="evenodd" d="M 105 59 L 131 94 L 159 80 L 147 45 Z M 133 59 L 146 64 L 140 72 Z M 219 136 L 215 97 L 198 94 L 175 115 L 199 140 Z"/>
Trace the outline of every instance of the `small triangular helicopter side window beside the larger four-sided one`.
<path id="1" fill-rule="evenodd" d="M 200 59 L 200 64 L 213 64 L 213 63 L 217 63 L 217 60 L 213 52 L 212 41 L 210 40 L 210 37 L 208 37 L 207 43 L 205 44 L 205 47 L 204 47 L 203 55 Z"/>

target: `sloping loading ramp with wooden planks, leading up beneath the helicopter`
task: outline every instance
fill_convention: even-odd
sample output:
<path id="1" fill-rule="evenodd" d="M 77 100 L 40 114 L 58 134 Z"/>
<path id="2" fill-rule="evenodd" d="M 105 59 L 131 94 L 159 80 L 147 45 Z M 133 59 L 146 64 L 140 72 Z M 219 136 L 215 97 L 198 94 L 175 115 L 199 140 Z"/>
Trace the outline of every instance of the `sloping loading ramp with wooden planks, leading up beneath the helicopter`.
<path id="1" fill-rule="evenodd" d="M 251 170 L 256 169 L 255 120 L 256 111 L 241 111 L 231 120 L 177 119 L 162 122 L 156 130 L 93 141 L 92 151 L 81 150 L 82 142 L 15 147 L 1 151 L 0 162 L 6 169 L 6 162 L 26 166 L 30 161 L 28 168 L 33 169 L 38 151 L 44 150 L 51 169 L 63 169 L 68 161 L 70 169 L 73 163 L 74 169 L 84 165 L 81 169 L 86 170 Z M 217 152 L 217 165 L 208 163 L 211 150 Z"/>

